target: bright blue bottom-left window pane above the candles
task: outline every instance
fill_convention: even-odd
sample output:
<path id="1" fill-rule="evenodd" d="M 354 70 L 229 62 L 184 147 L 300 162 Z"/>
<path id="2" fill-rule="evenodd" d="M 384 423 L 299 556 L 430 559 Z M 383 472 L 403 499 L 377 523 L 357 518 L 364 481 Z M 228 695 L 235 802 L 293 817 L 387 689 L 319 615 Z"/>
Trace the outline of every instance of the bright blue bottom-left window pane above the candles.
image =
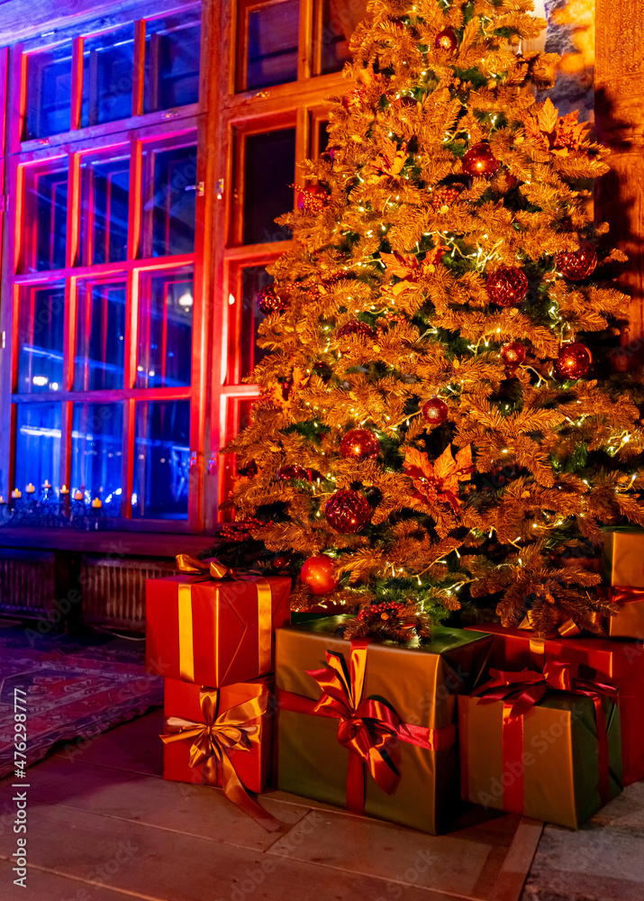
<path id="1" fill-rule="evenodd" d="M 59 404 L 18 404 L 15 487 L 21 491 L 45 479 L 59 484 L 60 412 Z"/>

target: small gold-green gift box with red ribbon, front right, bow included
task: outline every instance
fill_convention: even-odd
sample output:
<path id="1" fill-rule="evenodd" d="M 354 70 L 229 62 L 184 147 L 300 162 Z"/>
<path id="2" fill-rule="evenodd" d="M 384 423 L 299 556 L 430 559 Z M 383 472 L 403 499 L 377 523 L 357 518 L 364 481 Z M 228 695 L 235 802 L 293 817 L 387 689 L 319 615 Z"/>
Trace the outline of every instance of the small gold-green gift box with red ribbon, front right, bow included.
<path id="1" fill-rule="evenodd" d="M 617 692 L 554 658 L 491 675 L 458 698 L 462 798 L 578 828 L 621 792 Z"/>

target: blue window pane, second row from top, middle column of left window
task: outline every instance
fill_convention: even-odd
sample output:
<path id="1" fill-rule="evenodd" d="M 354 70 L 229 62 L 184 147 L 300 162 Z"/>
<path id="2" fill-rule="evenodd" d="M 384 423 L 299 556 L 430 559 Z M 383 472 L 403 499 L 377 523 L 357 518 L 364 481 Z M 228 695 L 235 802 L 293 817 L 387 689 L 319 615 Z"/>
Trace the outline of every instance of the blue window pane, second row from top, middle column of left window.
<path id="1" fill-rule="evenodd" d="M 80 164 L 82 265 L 127 259 L 129 152 L 85 157 Z"/>

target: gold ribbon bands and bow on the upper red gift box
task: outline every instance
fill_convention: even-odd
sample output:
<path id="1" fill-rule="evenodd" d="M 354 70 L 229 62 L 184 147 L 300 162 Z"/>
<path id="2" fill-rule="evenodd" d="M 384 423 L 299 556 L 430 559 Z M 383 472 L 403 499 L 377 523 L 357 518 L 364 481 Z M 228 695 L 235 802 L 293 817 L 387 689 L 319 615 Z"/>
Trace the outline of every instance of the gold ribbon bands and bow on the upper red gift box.
<path id="1" fill-rule="evenodd" d="M 177 568 L 191 576 L 203 576 L 204 580 L 232 578 L 237 581 L 252 581 L 258 593 L 258 676 L 270 672 L 272 665 L 273 596 L 266 578 L 257 578 L 259 573 L 239 572 L 224 566 L 219 560 L 197 560 L 189 554 L 177 554 Z M 201 581 L 201 579 L 199 580 Z M 179 583 L 179 672 L 181 678 L 195 682 L 195 651 L 192 612 L 193 582 Z M 215 655 L 218 649 L 215 648 Z"/>

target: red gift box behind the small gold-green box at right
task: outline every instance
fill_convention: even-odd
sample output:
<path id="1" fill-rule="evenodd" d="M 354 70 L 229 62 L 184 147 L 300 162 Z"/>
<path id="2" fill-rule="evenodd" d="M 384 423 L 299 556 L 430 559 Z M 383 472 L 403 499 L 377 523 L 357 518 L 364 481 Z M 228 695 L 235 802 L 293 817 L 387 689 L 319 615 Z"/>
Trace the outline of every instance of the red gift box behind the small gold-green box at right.
<path id="1" fill-rule="evenodd" d="M 619 690 L 624 785 L 644 778 L 644 645 L 588 636 L 537 639 L 523 629 L 477 625 L 494 635 L 490 662 L 496 669 L 542 669 L 547 654 L 579 667 L 580 675 Z"/>

